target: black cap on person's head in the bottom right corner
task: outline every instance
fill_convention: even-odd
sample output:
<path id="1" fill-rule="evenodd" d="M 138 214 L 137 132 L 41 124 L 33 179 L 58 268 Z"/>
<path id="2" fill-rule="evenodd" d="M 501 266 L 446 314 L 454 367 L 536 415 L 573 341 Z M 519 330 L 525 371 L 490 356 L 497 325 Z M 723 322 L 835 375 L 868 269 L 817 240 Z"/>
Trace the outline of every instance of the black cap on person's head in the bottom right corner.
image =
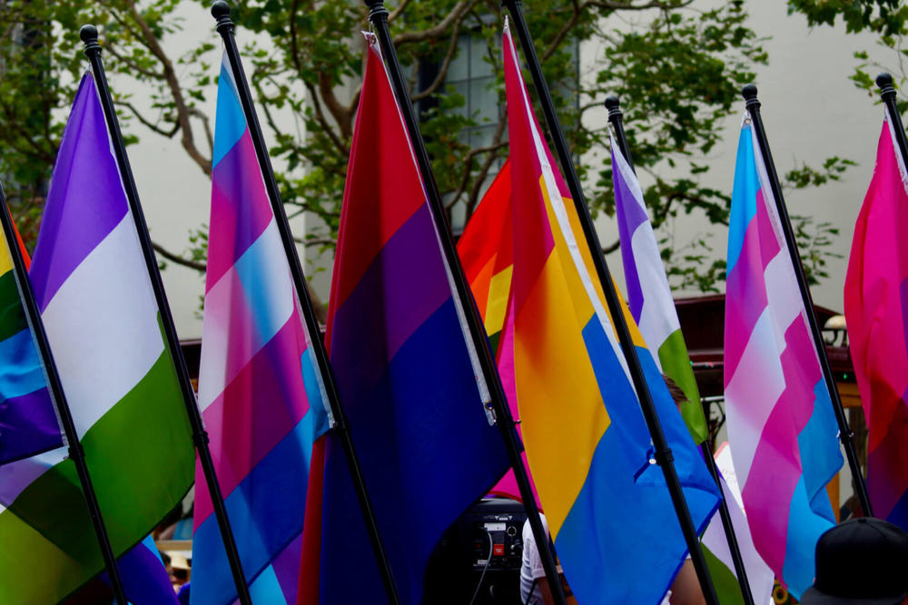
<path id="1" fill-rule="evenodd" d="M 908 602 L 908 533 L 872 517 L 849 519 L 816 542 L 814 586 L 804 605 Z"/>

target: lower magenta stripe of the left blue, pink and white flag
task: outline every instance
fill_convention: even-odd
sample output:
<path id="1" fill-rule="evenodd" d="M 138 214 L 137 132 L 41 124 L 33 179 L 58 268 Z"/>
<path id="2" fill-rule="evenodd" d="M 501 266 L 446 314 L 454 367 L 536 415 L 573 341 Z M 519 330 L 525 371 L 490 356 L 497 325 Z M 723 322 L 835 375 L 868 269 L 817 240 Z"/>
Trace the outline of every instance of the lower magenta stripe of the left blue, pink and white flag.
<path id="1" fill-rule="evenodd" d="M 202 413 L 214 467 L 226 498 L 309 411 L 302 381 L 306 340 L 294 314 Z M 196 483 L 195 526 L 212 513 L 205 483 Z"/>

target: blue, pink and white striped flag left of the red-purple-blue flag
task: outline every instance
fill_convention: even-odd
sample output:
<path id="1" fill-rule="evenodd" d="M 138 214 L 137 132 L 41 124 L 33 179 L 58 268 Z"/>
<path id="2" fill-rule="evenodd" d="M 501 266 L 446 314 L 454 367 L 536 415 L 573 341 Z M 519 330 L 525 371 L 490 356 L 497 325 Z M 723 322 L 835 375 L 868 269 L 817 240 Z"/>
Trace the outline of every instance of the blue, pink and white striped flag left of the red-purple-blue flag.
<path id="1" fill-rule="evenodd" d="M 312 443 L 329 417 L 226 54 L 212 163 L 199 407 L 252 599 L 294 602 Z M 195 476 L 191 602 L 232 603 L 198 464 Z"/>

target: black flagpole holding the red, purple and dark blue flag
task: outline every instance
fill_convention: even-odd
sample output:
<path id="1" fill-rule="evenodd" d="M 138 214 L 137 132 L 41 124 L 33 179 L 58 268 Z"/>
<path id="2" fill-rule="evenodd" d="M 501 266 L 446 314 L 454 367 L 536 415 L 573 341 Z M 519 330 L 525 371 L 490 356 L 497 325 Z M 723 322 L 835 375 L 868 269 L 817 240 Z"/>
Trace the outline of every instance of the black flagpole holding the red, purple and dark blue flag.
<path id="1" fill-rule="evenodd" d="M 523 499 L 523 505 L 527 510 L 527 518 L 530 528 L 533 531 L 533 538 L 538 546 L 539 556 L 542 558 L 542 565 L 546 570 L 546 579 L 548 588 L 552 591 L 552 596 L 560 604 L 567 603 L 564 589 L 561 581 L 558 579 L 558 569 L 555 562 L 555 549 L 549 539 L 545 528 L 542 526 L 542 520 L 539 517 L 539 509 L 536 504 L 536 497 L 529 486 L 529 477 L 527 469 L 523 465 L 523 459 L 520 453 L 523 445 L 517 434 L 514 425 L 514 419 L 510 414 L 508 399 L 505 396 L 504 389 L 501 386 L 501 379 L 498 376 L 498 368 L 489 351 L 489 340 L 486 337 L 486 329 L 477 315 L 476 306 L 473 303 L 473 295 L 469 288 L 469 282 L 464 277 L 463 268 L 457 255 L 457 249 L 454 247 L 454 241 L 450 236 L 450 226 L 448 218 L 444 212 L 444 205 L 439 195 L 439 186 L 435 182 L 435 175 L 432 172 L 432 165 L 429 162 L 429 153 L 426 151 L 426 144 L 422 140 L 422 133 L 419 132 L 419 124 L 413 113 L 413 104 L 410 102 L 410 93 L 407 85 L 404 83 L 403 73 L 400 72 L 400 62 L 398 61 L 397 50 L 394 42 L 391 40 L 390 30 L 388 28 L 388 9 L 385 8 L 382 0 L 365 0 L 369 6 L 369 19 L 375 27 L 375 33 L 379 38 L 381 54 L 384 54 L 385 63 L 388 65 L 391 86 L 394 89 L 394 96 L 397 97 L 400 105 L 400 112 L 403 114 L 404 122 L 407 122 L 407 131 L 410 132 L 410 141 L 413 142 L 413 151 L 416 154 L 416 160 L 419 164 L 419 172 L 422 175 L 422 181 L 426 184 L 426 192 L 429 197 L 429 208 L 432 211 L 432 219 L 435 221 L 435 228 L 439 233 L 441 248 L 444 252 L 445 259 L 451 269 L 454 278 L 455 288 L 460 307 L 463 308 L 464 316 L 469 326 L 469 337 L 473 347 L 479 356 L 479 366 L 482 368 L 482 376 L 489 385 L 489 403 L 497 419 L 496 424 L 501 432 L 508 450 L 511 466 L 514 469 L 514 478 L 517 480 L 520 489 L 520 497 Z"/>

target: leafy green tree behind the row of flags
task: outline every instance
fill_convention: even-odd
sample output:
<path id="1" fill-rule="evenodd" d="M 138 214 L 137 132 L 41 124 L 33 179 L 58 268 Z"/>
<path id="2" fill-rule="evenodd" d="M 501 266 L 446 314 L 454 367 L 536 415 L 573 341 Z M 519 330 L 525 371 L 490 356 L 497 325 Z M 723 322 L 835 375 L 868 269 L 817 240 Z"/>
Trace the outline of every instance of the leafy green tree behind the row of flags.
<path id="1" fill-rule="evenodd" d="M 184 29 L 187 6 L 198 0 L 98 0 L 91 5 L 54 0 L 0 2 L 0 174 L 10 179 L 10 201 L 26 238 L 43 202 L 56 147 L 77 76 L 84 69 L 80 24 L 101 29 L 105 63 L 130 141 L 179 138 L 198 170 L 211 175 L 212 117 L 199 107 L 214 94 L 217 61 L 211 28 Z M 739 101 L 752 67 L 765 63 L 761 41 L 746 26 L 743 0 L 704 8 L 695 0 L 534 0 L 526 6 L 543 70 L 586 182 L 592 210 L 614 213 L 601 102 L 618 93 L 630 148 L 656 229 L 679 212 L 701 212 L 727 224 L 728 196 L 704 184 L 703 160 L 720 140 L 719 121 Z M 709 3 L 714 4 L 714 3 Z M 505 113 L 469 114 L 465 98 L 446 83 L 465 41 L 483 50 L 494 78 L 489 94 L 503 106 L 497 0 L 389 3 L 390 27 L 417 103 L 422 132 L 448 208 L 469 217 L 484 184 L 507 154 Z M 331 249 L 337 236 L 343 183 L 362 73 L 367 12 L 354 0 L 238 0 L 233 3 L 247 72 L 262 122 L 276 141 L 271 156 L 292 217 L 302 212 L 319 227 L 297 234 L 302 243 Z M 633 23 L 631 23 L 633 22 Z M 192 40 L 174 55 L 173 42 Z M 603 47 L 577 64 L 578 44 Z M 479 44 L 479 46 L 477 46 Z M 134 85 L 118 85 L 131 79 Z M 118 93 L 118 90 L 121 91 Z M 142 90 L 130 97 L 123 90 Z M 483 144 L 470 128 L 494 126 Z M 666 261 L 682 282 L 716 287 L 721 261 L 703 266 L 687 242 L 666 240 Z M 694 243 L 696 248 L 696 242 Z M 617 248 L 609 242 L 607 249 Z M 205 232 L 165 259 L 202 269 Z"/>

